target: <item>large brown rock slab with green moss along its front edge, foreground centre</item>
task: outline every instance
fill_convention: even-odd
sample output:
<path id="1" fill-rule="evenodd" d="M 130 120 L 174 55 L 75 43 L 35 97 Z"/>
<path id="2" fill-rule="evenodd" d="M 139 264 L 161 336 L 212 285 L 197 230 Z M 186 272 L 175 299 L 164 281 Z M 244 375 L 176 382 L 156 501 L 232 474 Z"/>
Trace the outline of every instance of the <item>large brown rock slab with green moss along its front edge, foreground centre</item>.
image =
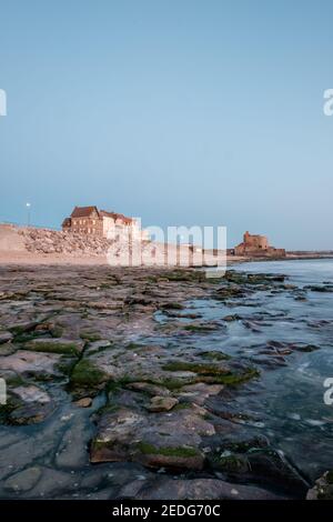
<path id="1" fill-rule="evenodd" d="M 119 404 L 124 402 L 123 395 Z M 104 413 L 91 444 L 91 462 L 140 462 L 149 468 L 195 469 L 205 456 L 200 449 L 203 436 L 215 433 L 200 411 L 171 410 L 147 414 L 143 410 L 120 406 Z"/>

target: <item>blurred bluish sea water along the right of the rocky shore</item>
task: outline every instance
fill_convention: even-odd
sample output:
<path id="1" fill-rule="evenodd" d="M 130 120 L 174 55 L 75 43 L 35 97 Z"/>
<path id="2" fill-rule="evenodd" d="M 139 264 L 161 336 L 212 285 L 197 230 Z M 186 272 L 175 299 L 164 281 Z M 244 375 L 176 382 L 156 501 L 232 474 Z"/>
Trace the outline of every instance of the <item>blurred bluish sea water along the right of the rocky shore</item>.
<path id="1" fill-rule="evenodd" d="M 299 288 L 333 282 L 333 260 L 256 262 L 238 265 L 236 270 L 287 274 L 286 282 Z M 230 323 L 226 338 L 216 343 L 231 354 L 241 353 L 255 361 L 256 347 L 266 341 L 320 347 L 311 353 L 293 353 L 285 367 L 262 372 L 254 393 L 238 399 L 244 411 L 255 414 L 261 431 L 274 445 L 314 480 L 333 465 L 333 405 L 326 405 L 323 399 L 324 380 L 333 378 L 333 293 L 309 291 L 306 301 L 296 301 L 285 292 L 258 292 L 252 301 L 253 308 L 232 310 L 221 303 L 212 309 L 202 302 L 194 305 L 211 318 L 223 313 L 249 318 L 263 311 L 270 314 L 258 323 L 258 332 L 238 321 Z"/>

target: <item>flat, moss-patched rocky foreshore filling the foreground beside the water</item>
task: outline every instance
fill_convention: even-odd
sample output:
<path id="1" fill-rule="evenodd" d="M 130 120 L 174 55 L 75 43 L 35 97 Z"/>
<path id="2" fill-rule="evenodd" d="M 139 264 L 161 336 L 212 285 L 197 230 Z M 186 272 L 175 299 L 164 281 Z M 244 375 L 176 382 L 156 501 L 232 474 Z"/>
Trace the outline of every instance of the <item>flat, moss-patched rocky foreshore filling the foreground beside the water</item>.
<path id="1" fill-rule="evenodd" d="M 184 308 L 293 292 L 283 277 L 12 267 L 0 282 L 1 498 L 305 498 L 233 398 L 312 347 L 268 345 L 251 363 L 205 344 L 241 318 Z"/>

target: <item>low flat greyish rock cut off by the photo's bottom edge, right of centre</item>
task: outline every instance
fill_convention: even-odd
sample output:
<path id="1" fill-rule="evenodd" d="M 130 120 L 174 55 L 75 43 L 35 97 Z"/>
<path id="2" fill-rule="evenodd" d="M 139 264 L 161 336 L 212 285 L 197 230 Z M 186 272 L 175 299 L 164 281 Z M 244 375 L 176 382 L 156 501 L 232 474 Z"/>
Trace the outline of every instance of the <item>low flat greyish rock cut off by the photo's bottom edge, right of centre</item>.
<path id="1" fill-rule="evenodd" d="M 135 500 L 281 500 L 270 491 L 232 484 L 216 479 L 155 479 L 149 484 L 133 481 L 119 492 L 120 499 Z"/>

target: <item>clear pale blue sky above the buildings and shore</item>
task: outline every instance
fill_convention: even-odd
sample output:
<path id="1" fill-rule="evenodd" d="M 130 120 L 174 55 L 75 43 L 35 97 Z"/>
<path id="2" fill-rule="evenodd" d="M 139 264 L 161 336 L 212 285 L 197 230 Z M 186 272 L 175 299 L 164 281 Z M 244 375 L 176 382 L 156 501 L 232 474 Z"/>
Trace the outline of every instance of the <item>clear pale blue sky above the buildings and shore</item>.
<path id="1" fill-rule="evenodd" d="M 74 204 L 333 249 L 333 2 L 0 0 L 0 220 Z"/>

